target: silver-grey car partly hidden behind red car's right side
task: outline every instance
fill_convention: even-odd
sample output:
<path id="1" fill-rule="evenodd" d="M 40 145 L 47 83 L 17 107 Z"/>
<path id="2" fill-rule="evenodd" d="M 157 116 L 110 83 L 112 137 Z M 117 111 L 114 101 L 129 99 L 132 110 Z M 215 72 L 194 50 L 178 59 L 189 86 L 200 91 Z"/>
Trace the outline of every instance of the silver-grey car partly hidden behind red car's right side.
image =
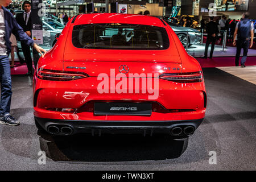
<path id="1" fill-rule="evenodd" d="M 188 46 L 192 44 L 200 44 L 201 43 L 201 32 L 194 28 L 190 27 L 182 27 L 179 24 L 172 23 L 170 21 L 166 21 L 168 25 L 174 30 L 175 34 L 180 39 L 180 42 L 185 47 L 188 41 Z M 188 32 L 188 40 L 187 40 L 187 32 Z"/>

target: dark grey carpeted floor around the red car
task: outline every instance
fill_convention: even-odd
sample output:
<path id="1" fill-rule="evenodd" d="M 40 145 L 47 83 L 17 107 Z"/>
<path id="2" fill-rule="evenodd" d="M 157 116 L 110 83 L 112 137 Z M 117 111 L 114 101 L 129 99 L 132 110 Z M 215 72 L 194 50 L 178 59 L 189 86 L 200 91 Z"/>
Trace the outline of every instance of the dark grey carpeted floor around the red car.
<path id="1" fill-rule="evenodd" d="M 217 68 L 203 71 L 207 113 L 179 158 L 183 142 L 167 137 L 38 133 L 31 78 L 13 75 L 11 114 L 21 124 L 0 125 L 0 170 L 255 170 L 256 85 Z M 47 154 L 45 165 L 39 151 Z M 210 151 L 217 164 L 209 164 Z"/>

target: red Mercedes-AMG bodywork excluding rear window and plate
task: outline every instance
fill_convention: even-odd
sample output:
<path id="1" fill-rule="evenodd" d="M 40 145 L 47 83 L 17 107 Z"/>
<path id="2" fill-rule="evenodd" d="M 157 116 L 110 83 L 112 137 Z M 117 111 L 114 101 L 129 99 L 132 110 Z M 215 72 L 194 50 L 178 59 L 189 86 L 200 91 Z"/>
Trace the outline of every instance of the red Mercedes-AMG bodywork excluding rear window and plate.
<path id="1" fill-rule="evenodd" d="M 102 23 L 164 28 L 170 46 L 163 50 L 82 49 L 73 46 L 75 26 Z M 110 75 L 110 69 L 114 69 L 116 76 L 123 65 L 128 67 L 129 73 L 159 74 L 158 98 L 150 100 L 148 93 L 99 93 L 97 86 L 101 80 L 98 80 L 98 75 Z M 68 77 L 69 81 L 63 81 L 63 77 Z M 174 80 L 168 80 L 169 77 L 174 77 Z M 177 77 L 183 77 L 183 81 L 175 81 Z M 189 135 L 205 115 L 207 96 L 203 79 L 200 64 L 188 55 L 175 32 L 163 20 L 131 14 L 77 15 L 69 20 L 55 46 L 38 62 L 33 85 L 36 126 L 51 134 L 64 135 L 112 129 Z M 150 103 L 151 114 L 98 115 L 94 112 L 96 102 Z"/>

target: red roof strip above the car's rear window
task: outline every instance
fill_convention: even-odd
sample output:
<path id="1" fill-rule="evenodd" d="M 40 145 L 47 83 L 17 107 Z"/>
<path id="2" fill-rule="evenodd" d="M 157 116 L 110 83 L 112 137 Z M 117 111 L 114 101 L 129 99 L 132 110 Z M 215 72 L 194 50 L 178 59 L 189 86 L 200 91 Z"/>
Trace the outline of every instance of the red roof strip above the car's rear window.
<path id="1" fill-rule="evenodd" d="M 154 16 L 137 14 L 118 14 L 118 13 L 92 13 L 81 14 L 76 17 L 75 25 L 91 23 L 126 23 L 144 24 L 150 26 L 164 27 L 162 20 Z"/>

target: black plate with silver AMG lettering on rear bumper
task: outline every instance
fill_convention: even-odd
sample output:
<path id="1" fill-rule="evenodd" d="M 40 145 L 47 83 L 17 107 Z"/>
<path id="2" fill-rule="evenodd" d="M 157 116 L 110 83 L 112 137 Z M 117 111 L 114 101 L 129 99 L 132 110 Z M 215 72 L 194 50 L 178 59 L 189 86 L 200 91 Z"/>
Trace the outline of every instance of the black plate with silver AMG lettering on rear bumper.
<path id="1" fill-rule="evenodd" d="M 150 103 L 95 102 L 95 115 L 151 115 Z"/>

